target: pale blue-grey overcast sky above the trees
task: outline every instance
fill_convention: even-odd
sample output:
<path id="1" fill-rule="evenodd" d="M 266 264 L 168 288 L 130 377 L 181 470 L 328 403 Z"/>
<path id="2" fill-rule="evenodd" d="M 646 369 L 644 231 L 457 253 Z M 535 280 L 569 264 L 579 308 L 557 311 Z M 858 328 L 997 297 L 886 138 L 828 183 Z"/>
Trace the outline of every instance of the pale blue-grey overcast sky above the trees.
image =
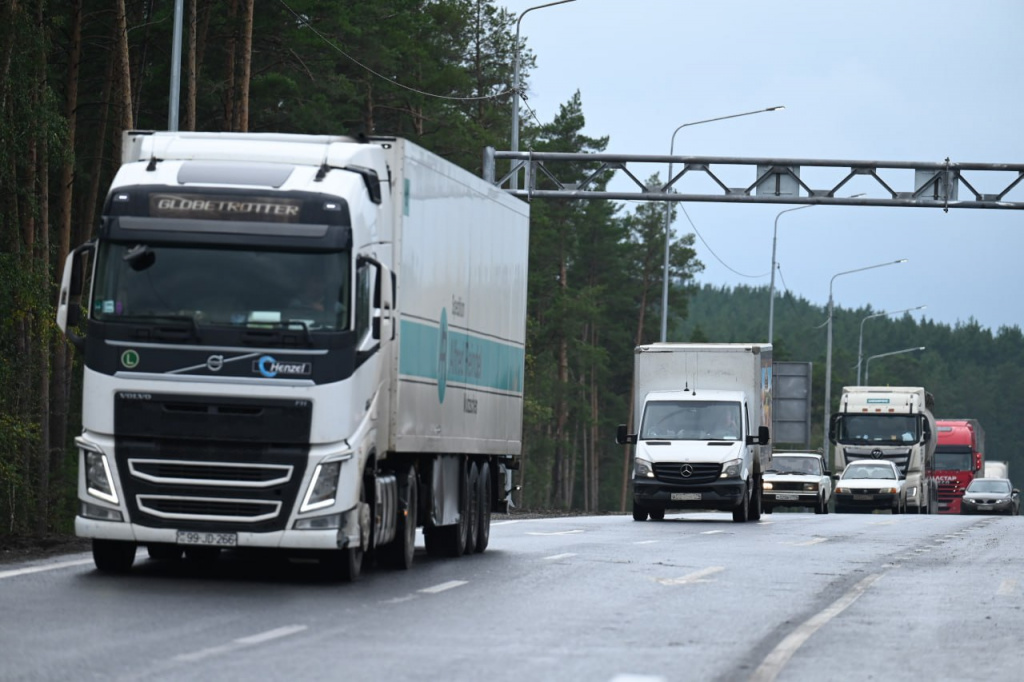
<path id="1" fill-rule="evenodd" d="M 519 14 L 545 0 L 500 4 Z M 579 90 L 584 132 L 607 135 L 608 153 L 668 155 L 681 124 L 784 105 L 684 127 L 674 152 L 1024 163 L 1022 0 L 574 0 L 536 9 L 520 26 L 537 56 L 526 103 L 549 122 Z M 982 180 L 972 182 L 980 191 L 1012 179 L 967 177 Z M 893 178 L 894 188 L 912 189 L 909 175 Z M 610 186 L 633 188 L 617 178 Z M 677 186 L 687 187 L 709 191 Z M 865 178 L 843 194 L 859 191 L 882 196 Z M 1024 202 L 1024 183 L 1007 199 Z M 673 227 L 699 235 L 699 284 L 768 285 L 774 220 L 794 206 L 685 208 L 692 225 L 680 212 Z M 1024 211 L 816 206 L 778 224 L 776 290 L 824 306 L 835 274 L 906 258 L 836 278 L 836 305 L 926 305 L 912 314 L 951 326 L 973 317 L 993 332 L 1024 326 Z M 766 300 L 766 336 L 767 325 Z"/>

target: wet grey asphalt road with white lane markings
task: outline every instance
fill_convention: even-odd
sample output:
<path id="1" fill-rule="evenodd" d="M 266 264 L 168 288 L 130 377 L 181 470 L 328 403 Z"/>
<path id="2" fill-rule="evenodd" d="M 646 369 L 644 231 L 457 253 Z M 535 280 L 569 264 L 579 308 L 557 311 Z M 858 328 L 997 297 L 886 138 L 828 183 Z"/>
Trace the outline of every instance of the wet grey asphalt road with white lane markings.
<path id="1" fill-rule="evenodd" d="M 0 680 L 1022 678 L 1024 520 L 512 520 L 355 584 L 222 555 L 0 566 Z"/>

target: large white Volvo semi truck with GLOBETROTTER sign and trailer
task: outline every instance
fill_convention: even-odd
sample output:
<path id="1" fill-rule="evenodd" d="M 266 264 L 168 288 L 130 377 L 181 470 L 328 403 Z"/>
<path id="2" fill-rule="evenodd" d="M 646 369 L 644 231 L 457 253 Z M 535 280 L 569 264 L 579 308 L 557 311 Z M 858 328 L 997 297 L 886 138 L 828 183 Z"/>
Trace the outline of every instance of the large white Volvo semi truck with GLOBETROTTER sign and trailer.
<path id="1" fill-rule="evenodd" d="M 354 580 L 371 551 L 408 568 L 418 526 L 483 551 L 521 451 L 528 205 L 397 138 L 123 150 L 57 310 L 96 566 L 258 547 Z"/>

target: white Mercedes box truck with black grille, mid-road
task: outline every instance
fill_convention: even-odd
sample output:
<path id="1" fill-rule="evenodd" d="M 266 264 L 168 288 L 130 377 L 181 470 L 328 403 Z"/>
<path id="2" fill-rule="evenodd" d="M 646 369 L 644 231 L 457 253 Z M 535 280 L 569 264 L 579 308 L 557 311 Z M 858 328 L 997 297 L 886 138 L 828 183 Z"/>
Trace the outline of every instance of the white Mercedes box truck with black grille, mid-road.
<path id="1" fill-rule="evenodd" d="M 634 355 L 633 518 L 668 510 L 761 517 L 771 466 L 772 353 L 769 344 L 655 343 Z"/>

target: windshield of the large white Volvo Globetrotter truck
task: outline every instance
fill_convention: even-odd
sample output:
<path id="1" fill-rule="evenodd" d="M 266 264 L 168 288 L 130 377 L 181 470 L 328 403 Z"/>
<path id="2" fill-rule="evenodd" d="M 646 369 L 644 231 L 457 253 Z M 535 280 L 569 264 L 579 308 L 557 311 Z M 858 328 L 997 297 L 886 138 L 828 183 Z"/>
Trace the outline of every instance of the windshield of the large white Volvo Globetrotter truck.
<path id="1" fill-rule="evenodd" d="M 348 252 L 104 243 L 91 314 L 102 322 L 349 328 Z"/>

